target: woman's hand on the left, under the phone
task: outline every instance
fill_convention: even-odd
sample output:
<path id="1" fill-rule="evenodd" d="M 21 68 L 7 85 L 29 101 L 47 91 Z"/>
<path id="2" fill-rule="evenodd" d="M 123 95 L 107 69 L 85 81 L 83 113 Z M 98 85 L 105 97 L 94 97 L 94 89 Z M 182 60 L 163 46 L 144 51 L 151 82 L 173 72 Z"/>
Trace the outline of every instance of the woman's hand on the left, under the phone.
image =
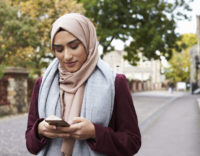
<path id="1" fill-rule="evenodd" d="M 54 116 L 51 116 L 51 119 L 54 118 Z M 57 117 L 55 117 L 57 118 Z M 66 132 L 62 132 L 60 130 L 57 130 L 55 125 L 49 125 L 45 120 L 41 121 L 38 124 L 38 134 L 39 137 L 45 136 L 47 138 L 67 138 L 69 137 L 69 134 Z"/>

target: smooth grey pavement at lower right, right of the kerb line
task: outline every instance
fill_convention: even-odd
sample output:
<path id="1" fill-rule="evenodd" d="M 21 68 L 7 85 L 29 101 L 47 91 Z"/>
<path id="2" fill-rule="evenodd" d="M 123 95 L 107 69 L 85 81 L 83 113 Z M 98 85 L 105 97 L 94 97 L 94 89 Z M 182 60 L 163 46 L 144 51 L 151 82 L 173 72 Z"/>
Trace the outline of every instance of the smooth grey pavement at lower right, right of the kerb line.
<path id="1" fill-rule="evenodd" d="M 136 156 L 199 156 L 199 95 L 185 94 L 170 102 L 142 132 Z"/>

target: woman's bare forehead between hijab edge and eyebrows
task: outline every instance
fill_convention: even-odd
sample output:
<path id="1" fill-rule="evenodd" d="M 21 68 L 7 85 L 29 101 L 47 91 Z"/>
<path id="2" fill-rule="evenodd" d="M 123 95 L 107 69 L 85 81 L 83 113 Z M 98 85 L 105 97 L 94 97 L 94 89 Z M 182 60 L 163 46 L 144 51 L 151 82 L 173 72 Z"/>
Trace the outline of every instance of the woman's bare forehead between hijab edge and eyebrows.
<path id="1" fill-rule="evenodd" d="M 70 42 L 72 40 L 76 39 L 74 35 L 69 33 L 68 31 L 59 31 L 54 36 L 54 44 L 65 44 L 66 42 Z"/>

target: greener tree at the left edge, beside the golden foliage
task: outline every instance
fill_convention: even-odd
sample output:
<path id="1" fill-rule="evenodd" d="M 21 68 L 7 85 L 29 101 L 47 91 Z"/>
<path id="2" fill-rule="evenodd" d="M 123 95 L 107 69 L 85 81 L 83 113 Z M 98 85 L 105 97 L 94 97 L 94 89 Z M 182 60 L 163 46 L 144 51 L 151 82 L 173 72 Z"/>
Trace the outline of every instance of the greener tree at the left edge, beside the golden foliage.
<path id="1" fill-rule="evenodd" d="M 18 9 L 9 6 L 6 1 L 0 2 L 0 75 L 6 65 L 20 64 L 18 57 L 21 51 L 22 58 L 27 55 L 30 47 L 38 44 L 36 40 L 36 27 L 32 19 L 27 16 L 21 18 Z M 36 42 L 35 42 L 36 41 Z M 16 56 L 14 60 L 10 57 Z"/>

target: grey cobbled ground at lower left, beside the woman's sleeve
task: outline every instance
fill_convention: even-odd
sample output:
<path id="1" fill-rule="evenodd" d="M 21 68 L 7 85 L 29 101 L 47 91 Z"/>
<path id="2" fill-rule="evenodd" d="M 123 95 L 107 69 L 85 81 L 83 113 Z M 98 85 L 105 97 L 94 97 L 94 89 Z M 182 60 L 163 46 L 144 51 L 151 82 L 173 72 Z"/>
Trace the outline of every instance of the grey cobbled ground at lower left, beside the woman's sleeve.
<path id="1" fill-rule="evenodd" d="M 0 156 L 33 156 L 26 148 L 27 114 L 0 118 Z"/>

